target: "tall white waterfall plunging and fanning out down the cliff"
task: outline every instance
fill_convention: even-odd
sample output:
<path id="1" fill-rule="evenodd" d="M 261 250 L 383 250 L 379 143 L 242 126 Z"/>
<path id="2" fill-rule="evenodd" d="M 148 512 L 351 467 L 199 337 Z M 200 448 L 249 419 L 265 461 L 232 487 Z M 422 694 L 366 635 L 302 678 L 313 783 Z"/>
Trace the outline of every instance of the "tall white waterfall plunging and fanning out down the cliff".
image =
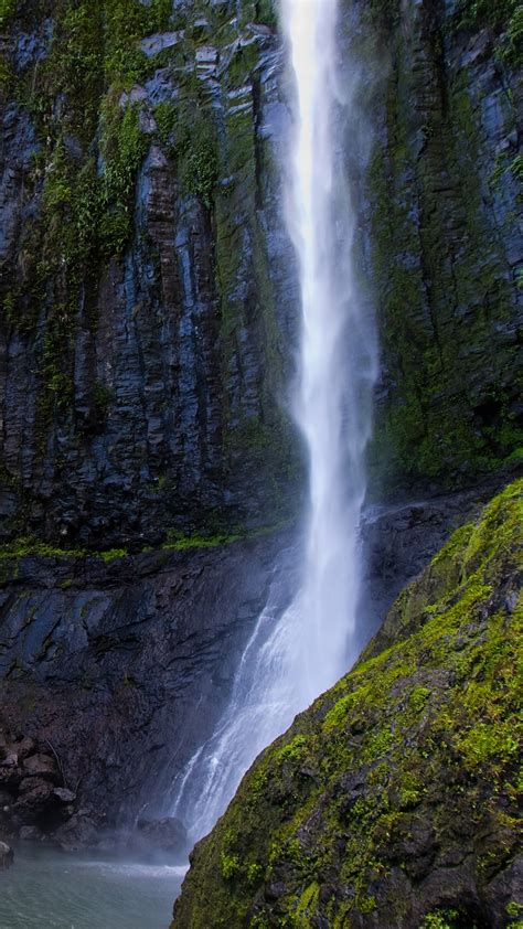
<path id="1" fill-rule="evenodd" d="M 376 353 L 353 280 L 342 145 L 351 114 L 339 93 L 338 0 L 280 0 L 280 19 L 293 84 L 285 213 L 302 309 L 293 412 L 309 453 L 302 581 L 282 613 L 278 591 L 269 595 L 230 705 L 174 784 L 172 813 L 194 841 L 224 812 L 259 751 L 356 658 L 357 534 Z"/>

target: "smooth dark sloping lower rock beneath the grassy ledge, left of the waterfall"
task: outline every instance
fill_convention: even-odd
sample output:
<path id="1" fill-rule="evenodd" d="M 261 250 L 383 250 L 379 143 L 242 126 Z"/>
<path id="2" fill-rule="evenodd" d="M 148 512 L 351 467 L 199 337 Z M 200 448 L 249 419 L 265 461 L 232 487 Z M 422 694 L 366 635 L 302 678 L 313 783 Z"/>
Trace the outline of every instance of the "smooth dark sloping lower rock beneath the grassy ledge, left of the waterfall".
<path id="1" fill-rule="evenodd" d="M 77 847 L 167 815 L 269 587 L 289 596 L 289 536 L 2 564 L 1 830 Z"/>

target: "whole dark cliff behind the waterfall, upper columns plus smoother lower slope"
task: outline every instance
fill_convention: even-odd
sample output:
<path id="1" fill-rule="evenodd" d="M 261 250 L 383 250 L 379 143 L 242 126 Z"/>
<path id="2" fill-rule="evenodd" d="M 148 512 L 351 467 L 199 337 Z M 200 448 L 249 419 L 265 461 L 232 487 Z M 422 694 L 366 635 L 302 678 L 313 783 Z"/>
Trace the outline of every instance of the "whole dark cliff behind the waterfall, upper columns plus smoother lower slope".
<path id="1" fill-rule="evenodd" d="M 343 2 L 372 483 L 409 494 L 367 514 L 373 623 L 477 496 L 413 488 L 519 442 L 517 22 Z M 269 0 L 0 0 L 0 724 L 116 819 L 212 725 L 290 544 L 255 536 L 303 483 L 281 68 Z"/>

